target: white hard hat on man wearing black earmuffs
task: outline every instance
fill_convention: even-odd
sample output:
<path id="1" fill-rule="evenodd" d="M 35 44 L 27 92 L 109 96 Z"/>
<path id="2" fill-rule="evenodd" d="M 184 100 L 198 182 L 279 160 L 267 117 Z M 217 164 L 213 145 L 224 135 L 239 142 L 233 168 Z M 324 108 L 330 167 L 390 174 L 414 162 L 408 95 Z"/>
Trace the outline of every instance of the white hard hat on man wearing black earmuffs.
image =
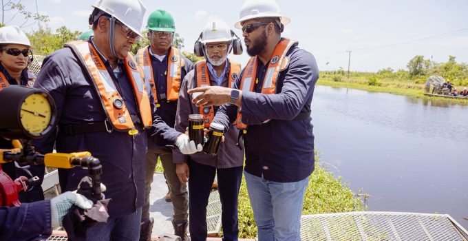
<path id="1" fill-rule="evenodd" d="M 209 21 L 203 28 L 202 43 L 227 42 L 231 40 L 233 40 L 231 28 L 224 21 Z"/>

